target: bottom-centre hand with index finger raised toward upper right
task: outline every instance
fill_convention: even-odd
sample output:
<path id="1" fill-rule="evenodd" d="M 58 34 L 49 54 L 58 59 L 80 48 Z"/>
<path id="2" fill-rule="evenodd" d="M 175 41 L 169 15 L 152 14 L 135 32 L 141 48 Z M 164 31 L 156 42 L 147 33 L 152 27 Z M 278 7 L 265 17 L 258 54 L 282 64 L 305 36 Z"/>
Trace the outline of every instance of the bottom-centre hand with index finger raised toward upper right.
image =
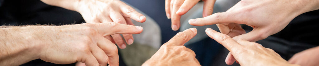
<path id="1" fill-rule="evenodd" d="M 195 52 L 183 46 L 196 34 L 196 28 L 177 33 L 142 66 L 200 66 L 195 58 Z"/>

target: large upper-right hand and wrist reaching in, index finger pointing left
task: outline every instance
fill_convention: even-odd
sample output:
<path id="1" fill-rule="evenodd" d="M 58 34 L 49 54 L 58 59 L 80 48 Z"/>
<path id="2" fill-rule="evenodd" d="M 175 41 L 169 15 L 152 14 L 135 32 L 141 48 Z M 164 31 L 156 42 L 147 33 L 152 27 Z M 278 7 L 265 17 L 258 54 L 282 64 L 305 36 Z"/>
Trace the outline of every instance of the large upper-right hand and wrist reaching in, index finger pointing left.
<path id="1" fill-rule="evenodd" d="M 235 40 L 255 42 L 283 30 L 298 15 L 318 10 L 318 3 L 318 0 L 241 0 L 226 12 L 190 19 L 189 24 L 194 26 L 216 24 L 221 33 Z M 240 24 L 249 25 L 253 30 L 245 33 Z M 226 63 L 231 65 L 234 62 L 234 57 L 229 53 Z"/>

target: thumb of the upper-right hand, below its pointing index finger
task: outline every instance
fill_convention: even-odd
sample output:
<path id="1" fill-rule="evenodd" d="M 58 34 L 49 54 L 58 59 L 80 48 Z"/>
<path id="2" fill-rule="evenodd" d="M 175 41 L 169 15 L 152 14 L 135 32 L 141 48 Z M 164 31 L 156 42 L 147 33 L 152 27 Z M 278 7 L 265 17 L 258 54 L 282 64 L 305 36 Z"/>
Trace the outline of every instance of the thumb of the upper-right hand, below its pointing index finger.
<path id="1" fill-rule="evenodd" d="M 246 40 L 249 42 L 256 42 L 258 40 L 265 39 L 268 36 L 270 36 L 270 35 L 267 33 L 267 30 L 263 30 L 262 28 L 255 28 L 252 31 L 250 31 L 249 33 L 235 36 L 235 37 L 233 37 L 233 39 L 236 41 L 241 39 L 241 40 Z"/>

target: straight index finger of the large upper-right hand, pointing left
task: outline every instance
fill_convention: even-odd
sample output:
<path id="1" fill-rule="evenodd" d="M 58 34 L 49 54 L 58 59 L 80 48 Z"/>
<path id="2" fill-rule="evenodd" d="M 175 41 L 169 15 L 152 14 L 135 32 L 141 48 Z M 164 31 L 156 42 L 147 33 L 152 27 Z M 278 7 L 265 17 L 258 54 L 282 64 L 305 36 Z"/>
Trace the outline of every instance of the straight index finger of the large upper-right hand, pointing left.
<path id="1" fill-rule="evenodd" d="M 228 12 L 215 13 L 203 18 L 190 19 L 188 23 L 194 26 L 205 26 L 218 23 L 235 23 L 235 19 L 229 18 L 228 15 Z"/>

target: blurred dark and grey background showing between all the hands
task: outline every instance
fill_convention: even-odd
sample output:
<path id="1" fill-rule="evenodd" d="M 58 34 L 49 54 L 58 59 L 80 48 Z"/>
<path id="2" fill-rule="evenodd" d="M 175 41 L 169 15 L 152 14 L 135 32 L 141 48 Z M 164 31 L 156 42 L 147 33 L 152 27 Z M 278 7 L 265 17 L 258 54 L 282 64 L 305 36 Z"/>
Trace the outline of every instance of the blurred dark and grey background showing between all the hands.
<path id="1" fill-rule="evenodd" d="M 203 66 L 228 66 L 225 58 L 228 54 L 219 43 L 209 38 L 205 34 L 206 28 L 212 28 L 219 31 L 216 25 L 208 26 L 191 26 L 188 24 L 189 19 L 202 17 L 203 2 L 200 1 L 188 13 L 181 18 L 180 30 L 171 29 L 171 20 L 167 19 L 165 14 L 165 0 L 122 0 L 138 12 L 146 16 L 145 23 L 133 23 L 137 26 L 144 27 L 141 34 L 133 35 L 135 40 L 126 49 L 119 49 L 120 66 L 140 66 L 149 59 L 159 47 L 166 43 L 178 32 L 188 28 L 197 28 L 198 33 L 193 39 L 185 44 L 196 53 L 197 60 Z M 214 13 L 225 12 L 240 0 L 217 0 L 214 6 Z M 279 33 L 269 36 L 264 40 L 257 41 L 266 48 L 271 48 L 280 54 L 284 59 L 289 60 L 295 53 L 302 50 L 318 46 L 314 39 L 309 37 L 319 37 L 311 29 L 300 28 L 318 28 L 318 26 L 300 26 L 306 23 L 318 24 L 319 17 L 316 16 L 318 10 L 304 13 L 295 19 Z M 36 24 L 79 24 L 85 23 L 81 14 L 76 11 L 66 10 L 60 7 L 47 5 L 40 0 L 0 0 L 0 24 L 1 25 L 36 25 Z M 307 24 L 309 25 L 309 24 Z M 247 25 L 242 28 L 249 32 L 252 30 Z M 302 31 L 309 31 L 302 34 Z M 312 31 L 312 32 L 311 32 Z M 296 36 L 293 37 L 292 35 Z M 21 66 L 74 66 L 73 64 L 54 64 L 44 62 L 40 59 L 33 60 Z M 239 66 L 234 63 L 232 66 Z"/>

